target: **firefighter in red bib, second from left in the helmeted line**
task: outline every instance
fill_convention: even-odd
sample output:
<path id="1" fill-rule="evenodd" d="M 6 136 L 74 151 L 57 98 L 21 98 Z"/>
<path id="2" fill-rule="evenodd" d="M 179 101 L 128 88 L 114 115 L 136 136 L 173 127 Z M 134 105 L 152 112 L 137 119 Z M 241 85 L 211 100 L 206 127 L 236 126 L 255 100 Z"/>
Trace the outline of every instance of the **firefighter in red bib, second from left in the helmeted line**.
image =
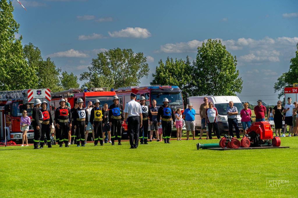
<path id="1" fill-rule="evenodd" d="M 51 128 L 52 128 L 52 116 L 50 113 L 50 110 L 46 108 L 48 103 L 46 101 L 43 101 L 41 103 L 41 113 L 43 116 L 43 121 L 41 122 L 41 138 L 40 138 L 40 147 L 44 147 L 44 135 L 46 135 L 46 142 L 48 144 L 48 148 L 52 148 L 51 146 Z"/>

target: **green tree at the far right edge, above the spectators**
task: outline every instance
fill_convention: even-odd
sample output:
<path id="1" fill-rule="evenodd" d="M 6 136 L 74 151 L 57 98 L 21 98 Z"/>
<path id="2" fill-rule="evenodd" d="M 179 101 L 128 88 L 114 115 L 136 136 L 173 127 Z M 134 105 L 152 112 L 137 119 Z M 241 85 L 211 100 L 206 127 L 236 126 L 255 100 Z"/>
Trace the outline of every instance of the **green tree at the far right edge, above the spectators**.
<path id="1" fill-rule="evenodd" d="M 274 83 L 274 93 L 279 92 L 279 99 L 285 96 L 285 87 L 291 87 L 292 84 L 298 83 L 298 43 L 296 47 L 296 56 L 290 60 L 291 65 L 288 72 L 283 73 L 279 78 L 277 78 L 277 82 Z"/>

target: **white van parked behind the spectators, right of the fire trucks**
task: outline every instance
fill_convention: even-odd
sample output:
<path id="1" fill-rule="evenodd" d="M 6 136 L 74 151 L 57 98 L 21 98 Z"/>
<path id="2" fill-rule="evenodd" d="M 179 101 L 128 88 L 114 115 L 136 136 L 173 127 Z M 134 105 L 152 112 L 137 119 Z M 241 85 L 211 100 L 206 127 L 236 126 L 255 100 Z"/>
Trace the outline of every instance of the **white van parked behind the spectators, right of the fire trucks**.
<path id="1" fill-rule="evenodd" d="M 201 130 L 201 117 L 200 117 L 200 106 L 204 103 L 204 97 L 208 98 L 208 102 L 212 102 L 214 107 L 217 109 L 218 116 L 218 129 L 220 133 L 228 133 L 229 125 L 228 125 L 228 117 L 226 113 L 226 108 L 229 106 L 229 102 L 233 101 L 234 106 L 238 109 L 238 127 L 240 132 L 243 130 L 241 124 L 240 111 L 243 108 L 243 105 L 240 99 L 237 96 L 192 96 L 189 97 L 189 102 L 193 104 L 193 109 L 195 109 L 195 129 Z M 202 112 L 205 113 L 205 112 Z M 205 126 L 206 129 L 206 126 Z M 233 130 L 235 130 L 233 128 Z M 235 133 L 235 132 L 234 132 Z"/>

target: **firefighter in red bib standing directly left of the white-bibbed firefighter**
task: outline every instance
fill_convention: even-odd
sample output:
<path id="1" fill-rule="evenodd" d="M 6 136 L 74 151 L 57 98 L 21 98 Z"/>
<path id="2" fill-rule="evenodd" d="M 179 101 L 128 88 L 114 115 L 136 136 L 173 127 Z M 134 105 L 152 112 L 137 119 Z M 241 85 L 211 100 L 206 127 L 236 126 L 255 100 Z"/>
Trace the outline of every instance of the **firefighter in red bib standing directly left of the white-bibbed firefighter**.
<path id="1" fill-rule="evenodd" d="M 64 141 L 65 147 L 69 147 L 68 128 L 69 126 L 72 126 L 72 114 L 70 114 L 70 109 L 65 106 L 65 100 L 63 98 L 59 101 L 59 104 L 60 107 L 55 111 L 55 122 L 59 133 L 59 143 L 60 147 L 62 147 Z"/>

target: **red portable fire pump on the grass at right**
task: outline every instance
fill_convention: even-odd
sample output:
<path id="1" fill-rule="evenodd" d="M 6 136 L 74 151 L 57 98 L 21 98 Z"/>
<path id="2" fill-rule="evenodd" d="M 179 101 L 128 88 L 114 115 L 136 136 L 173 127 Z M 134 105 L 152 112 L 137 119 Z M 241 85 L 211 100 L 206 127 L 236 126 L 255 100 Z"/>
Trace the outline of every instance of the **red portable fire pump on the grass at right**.
<path id="1" fill-rule="evenodd" d="M 252 145 L 251 145 L 252 144 Z M 280 146 L 280 138 L 273 137 L 269 122 L 254 122 L 241 139 L 241 147 Z"/>

